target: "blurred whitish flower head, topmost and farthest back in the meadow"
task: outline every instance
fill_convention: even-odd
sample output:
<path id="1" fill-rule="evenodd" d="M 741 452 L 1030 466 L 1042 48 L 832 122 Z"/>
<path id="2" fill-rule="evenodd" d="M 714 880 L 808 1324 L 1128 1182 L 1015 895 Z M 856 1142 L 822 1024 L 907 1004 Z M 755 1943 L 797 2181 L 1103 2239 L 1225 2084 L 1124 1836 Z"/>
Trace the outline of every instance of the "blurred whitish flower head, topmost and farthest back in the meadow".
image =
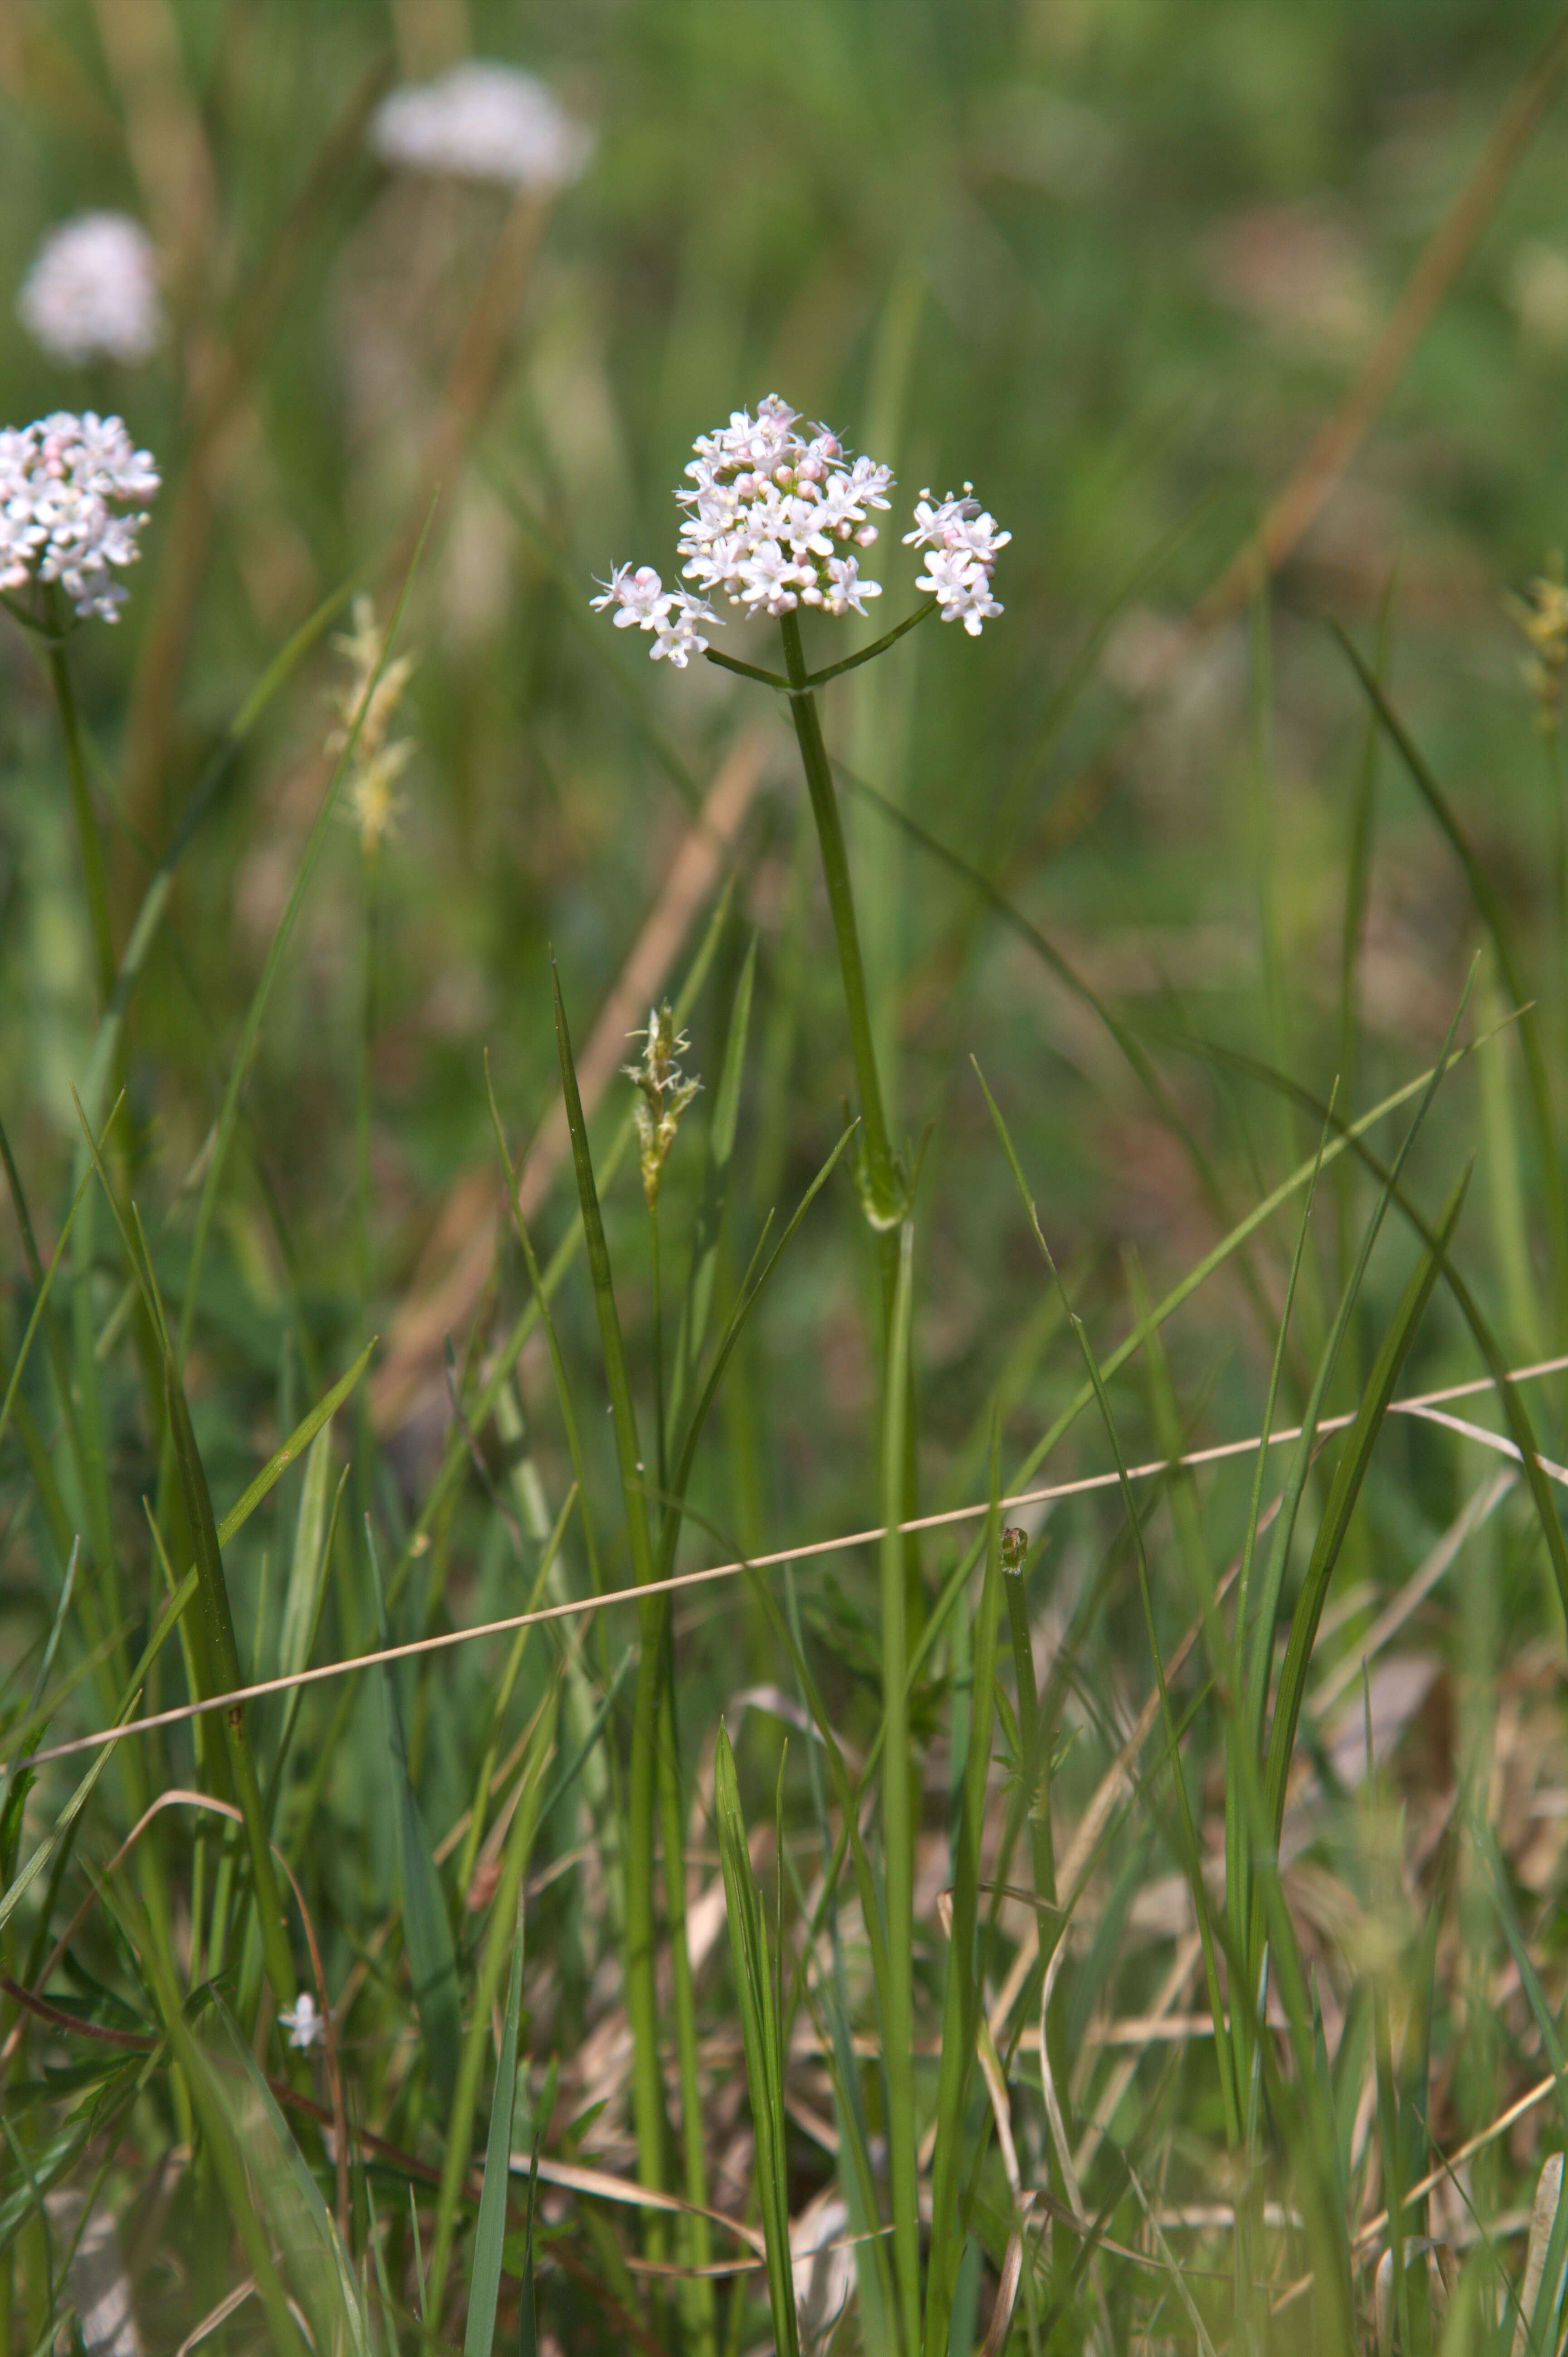
<path id="1" fill-rule="evenodd" d="M 393 90 L 377 106 L 370 144 L 381 163 L 410 172 L 560 189 L 586 167 L 593 132 L 520 66 L 469 59 L 433 82 Z"/>

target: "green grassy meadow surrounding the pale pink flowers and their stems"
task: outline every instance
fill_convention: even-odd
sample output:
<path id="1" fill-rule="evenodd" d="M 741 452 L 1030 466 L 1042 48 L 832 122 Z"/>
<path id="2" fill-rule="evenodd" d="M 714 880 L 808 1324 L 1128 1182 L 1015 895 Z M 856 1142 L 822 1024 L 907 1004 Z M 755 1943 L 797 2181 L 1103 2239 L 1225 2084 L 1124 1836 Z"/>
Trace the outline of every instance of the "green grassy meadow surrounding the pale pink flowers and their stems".
<path id="1" fill-rule="evenodd" d="M 219 1520 L 377 1339 L 332 1438 L 224 1546 L 245 1678 L 301 1666 L 287 1652 L 301 1629 L 323 1664 L 379 1631 L 438 1636 L 640 1577 L 605 1412 L 605 1301 L 572 1242 L 551 957 L 655 1516 L 669 1468 L 652 1483 L 652 1433 L 678 1327 L 697 1322 L 692 1254 L 709 1254 L 713 1339 L 765 1216 L 772 1249 L 855 1094 L 782 705 L 706 665 L 650 667 L 645 641 L 586 603 L 612 563 L 671 577 L 692 436 L 768 391 L 899 476 L 869 566 L 885 585 L 876 625 L 819 622 L 815 660 L 913 606 L 899 533 L 921 486 L 972 476 L 1012 533 L 1005 615 L 979 641 L 921 629 L 822 698 L 892 1127 L 923 1148 L 911 1376 L 895 1386 L 921 1511 L 984 1508 L 994 1426 L 1008 1492 L 1019 1466 L 1043 1483 L 1114 1468 L 1109 1424 L 1130 1464 L 1243 1440 L 1271 1384 L 1276 1426 L 1351 1417 L 1391 1332 L 1401 1398 L 1568 1351 L 1568 804 L 1509 603 L 1568 542 L 1556 82 L 1267 594 L 1234 566 L 1361 382 L 1552 38 L 1554 14 L 1526 0 L 0 9 L 0 424 L 115 410 L 165 476 L 122 622 L 82 625 L 68 648 L 120 950 L 191 797 L 217 785 L 127 997 L 111 1209 L 73 1105 L 104 1002 L 59 721 L 33 646 L 0 615 L 7 1384 L 38 1301 L 19 1197 L 45 1263 L 82 1176 L 94 1207 L 0 1438 L 7 1761 L 108 1723 L 200 1551 L 200 1483 L 139 1266 L 179 1332 Z M 384 90 L 466 52 L 537 71 L 593 127 L 577 184 L 513 200 L 377 163 L 365 125 Z M 38 238 L 92 205 L 132 212 L 160 250 L 170 335 L 139 368 L 66 370 L 12 323 Z M 367 592 L 386 622 L 405 587 L 396 646 L 414 660 L 396 733 L 414 752 L 393 830 L 365 858 L 334 813 L 313 853 L 348 606 L 294 651 L 238 745 L 235 714 L 334 592 Z M 1382 721 L 1330 625 L 1384 681 Z M 753 625 L 718 643 L 777 660 Z M 254 1063 L 226 1096 L 264 981 Z M 704 1094 L 659 1195 L 657 1313 L 614 1065 L 647 1002 L 687 985 Z M 1340 1153 L 1295 1275 L 1304 1186 L 1158 1346 L 1125 1355 L 1109 1424 L 1092 1398 L 1067 1421 L 1083 1355 L 975 1063 L 1107 1360 L 1311 1164 L 1335 1117 L 1420 1082 L 1455 1021 L 1479 1051 L 1429 1110 L 1417 1091 L 1368 1129 L 1387 1167 L 1422 1110 L 1366 1280 L 1382 1183 Z M 527 1235 L 542 1263 L 565 1259 L 553 1334 L 570 1419 L 539 1322 L 518 1351 L 532 1287 L 487 1075 L 511 1155 L 527 1150 Z M 725 1103 L 735 1148 L 716 1155 Z M 1469 1164 L 1450 1263 L 1474 1315 L 1439 1277 L 1403 1332 Z M 1561 1376 L 1526 1395 L 1542 1454 L 1566 1454 Z M 911 1494 L 883 1461 L 888 1400 L 878 1263 L 843 1162 L 739 1332 L 685 1525 L 662 1525 L 676 1565 L 881 1525 Z M 1486 1391 L 1455 1414 L 1504 1431 Z M 876 1544 L 697 1586 L 669 1631 L 619 1605 L 582 1638 L 560 1622 L 261 1702 L 250 1739 L 334 2008 L 332 2086 L 323 2051 L 275 2029 L 252 1862 L 224 1846 L 226 1820 L 167 1805 L 111 1871 L 158 1794 L 231 1789 L 212 1728 L 115 1747 L 73 1817 L 89 1758 L 7 1780 L 0 2341 L 129 2357 L 193 2345 L 207 2322 L 212 2350 L 471 2357 L 716 2357 L 791 2331 L 845 2357 L 1556 2348 L 1568 2209 L 1554 2227 L 1542 2164 L 1568 2133 L 1563 1541 L 1556 1508 L 1554 1544 L 1544 1532 L 1549 1483 L 1497 1483 L 1507 1464 L 1483 1442 L 1410 1417 L 1373 1419 L 1366 1438 L 1283 1843 L 1264 1843 L 1278 1869 L 1255 1869 L 1276 1902 L 1253 1921 L 1231 1909 L 1217 1968 L 1229 1992 L 1264 1940 L 1274 2027 L 1243 2036 L 1234 2006 L 1220 2048 L 1182 1820 L 1224 1914 L 1227 1827 L 1234 1860 L 1257 1838 L 1262 1772 L 1236 1758 L 1215 1600 L 1248 1551 L 1250 1457 L 1142 1485 L 1137 1525 L 1114 1487 L 1010 1513 L 1031 1549 L 1005 1607 L 984 1523 L 895 1549 L 911 1645 L 937 1615 L 906 1697 L 913 2036 L 897 2051 L 866 1926 L 897 1843 L 866 1770 L 890 1697 Z M 1337 1440 L 1300 1461 L 1281 1643 L 1342 1461 Z M 1290 1466 L 1269 1454 L 1264 1508 Z M 1140 1714 L 1151 1629 L 1168 1662 L 1194 1622 L 1205 1633 L 1170 1673 L 1177 1787 L 1165 1721 Z M 664 1862 L 685 1829 L 692 1959 L 673 1970 L 662 1864 L 652 2060 L 626 2011 L 638 1640 L 673 1648 L 657 1822 Z M 1264 1631 L 1264 1669 L 1274 1652 Z M 172 1640 L 137 1709 L 186 1702 L 198 1666 Z M 841 1860 L 833 1909 L 822 1874 L 862 1770 L 864 1867 Z M 1055 1888 L 1069 1857 L 1081 1879 Z M 772 2032 L 753 2025 L 768 1968 L 746 1994 L 732 1949 L 749 1871 L 793 2022 L 772 2093 L 758 2081 Z M 968 2062 L 979 1999 L 949 1956 L 965 1888 L 982 1926 L 965 1973 L 986 2003 L 1010 1987 L 994 2025 L 1010 2152 Z M 315 1987 L 292 1904 L 287 1923 L 299 1987 Z M 1059 1942 L 1062 2133 L 1041 2081 L 1036 1926 Z M 509 2112 L 494 2088 L 513 2039 Z M 1231 2119 L 1236 2058 L 1253 2079 Z M 664 2152 L 638 2140 L 647 2069 Z M 292 2107 L 266 2107 L 268 2077 Z M 1542 2081 L 1544 2100 L 1441 2166 Z M 899 2192 L 909 2121 L 918 2232 L 899 2211 L 916 2199 Z M 1389 2244 L 1370 2223 L 1434 2171 Z M 666 2206 L 638 2209 L 655 2178 Z M 815 2272 L 796 2267 L 798 2322 L 779 2220 L 796 2258 L 824 2246 Z M 247 2282 L 254 2296 L 221 2317 Z"/>

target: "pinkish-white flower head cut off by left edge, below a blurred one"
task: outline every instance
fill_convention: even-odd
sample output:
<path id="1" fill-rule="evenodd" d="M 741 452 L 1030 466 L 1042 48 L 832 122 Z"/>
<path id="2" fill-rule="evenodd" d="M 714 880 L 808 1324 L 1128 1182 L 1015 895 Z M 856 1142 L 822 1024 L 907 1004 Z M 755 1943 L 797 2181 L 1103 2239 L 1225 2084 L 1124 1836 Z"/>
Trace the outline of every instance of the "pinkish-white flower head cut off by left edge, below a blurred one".
<path id="1" fill-rule="evenodd" d="M 59 582 L 80 615 L 118 620 L 127 592 L 113 577 L 137 561 L 137 533 L 158 469 L 120 417 L 54 410 L 31 427 L 0 427 L 0 589 Z"/>

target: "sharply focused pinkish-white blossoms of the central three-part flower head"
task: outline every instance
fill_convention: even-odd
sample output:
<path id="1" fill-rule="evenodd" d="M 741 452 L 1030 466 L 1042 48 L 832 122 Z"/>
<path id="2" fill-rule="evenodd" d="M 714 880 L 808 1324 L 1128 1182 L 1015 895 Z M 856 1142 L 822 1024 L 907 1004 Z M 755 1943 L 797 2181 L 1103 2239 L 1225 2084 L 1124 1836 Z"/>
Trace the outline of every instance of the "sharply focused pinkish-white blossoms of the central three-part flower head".
<path id="1" fill-rule="evenodd" d="M 704 594 L 723 589 L 732 606 L 751 613 L 864 613 L 864 599 L 881 596 L 881 582 L 859 577 L 857 549 L 876 540 L 873 507 L 888 507 L 892 469 L 869 457 L 845 457 L 826 427 L 800 431 L 800 415 L 777 394 L 758 403 L 756 417 L 735 410 L 718 434 L 702 434 L 685 469 L 690 490 L 680 526 L 683 573 Z M 961 500 L 930 504 L 921 493 L 916 528 L 906 544 L 930 547 L 918 587 L 942 601 L 944 622 L 963 622 L 975 636 L 1001 613 L 991 596 L 996 552 L 1012 540 L 998 533 L 972 488 Z M 685 667 L 706 651 L 702 622 L 718 615 L 706 596 L 666 589 L 652 566 L 617 566 L 593 606 L 614 606 L 617 629 L 655 632 L 652 653 Z"/>

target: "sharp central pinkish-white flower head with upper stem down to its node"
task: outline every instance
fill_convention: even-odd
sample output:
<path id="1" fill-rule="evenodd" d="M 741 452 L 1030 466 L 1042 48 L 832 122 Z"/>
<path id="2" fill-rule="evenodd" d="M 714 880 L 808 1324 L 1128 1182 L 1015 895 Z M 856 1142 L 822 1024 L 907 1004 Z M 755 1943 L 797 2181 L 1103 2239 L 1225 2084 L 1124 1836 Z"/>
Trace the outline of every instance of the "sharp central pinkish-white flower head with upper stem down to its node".
<path id="1" fill-rule="evenodd" d="M 685 669 L 692 655 L 706 655 L 723 669 L 784 688 L 789 695 L 822 844 L 859 1082 L 864 1124 L 857 1160 L 859 1200 L 871 1228 L 890 1235 L 909 1211 L 909 1178 L 892 1150 L 883 1110 L 850 860 L 812 691 L 838 672 L 871 662 L 932 613 L 944 622 L 963 622 L 970 639 L 977 639 L 1003 610 L 991 594 L 991 575 L 1012 533 L 1003 533 L 996 516 L 986 514 L 972 483 L 965 483 L 961 495 L 949 493 L 946 500 L 932 500 L 930 490 L 923 490 L 904 544 L 925 552 L 925 570 L 916 577 L 925 603 L 873 646 L 810 672 L 800 615 L 805 610 L 833 618 L 864 615 L 866 599 L 883 594 L 883 585 L 862 577 L 859 566 L 864 552 L 876 544 L 873 514 L 890 507 L 892 467 L 864 455 L 850 457 L 838 434 L 824 424 L 803 427 L 798 410 L 768 394 L 758 401 L 756 417 L 751 410 L 732 410 L 727 427 L 699 434 L 685 471 L 690 486 L 676 493 L 685 509 L 678 549 L 680 575 L 695 587 L 666 589 L 652 566 L 617 566 L 598 585 L 600 594 L 591 603 L 598 613 L 612 613 L 617 629 L 647 632 L 655 660 L 669 658 L 676 669 Z M 723 620 L 709 603 L 718 594 L 744 613 L 777 620 L 784 672 L 758 669 L 709 646 L 706 632 Z"/>

